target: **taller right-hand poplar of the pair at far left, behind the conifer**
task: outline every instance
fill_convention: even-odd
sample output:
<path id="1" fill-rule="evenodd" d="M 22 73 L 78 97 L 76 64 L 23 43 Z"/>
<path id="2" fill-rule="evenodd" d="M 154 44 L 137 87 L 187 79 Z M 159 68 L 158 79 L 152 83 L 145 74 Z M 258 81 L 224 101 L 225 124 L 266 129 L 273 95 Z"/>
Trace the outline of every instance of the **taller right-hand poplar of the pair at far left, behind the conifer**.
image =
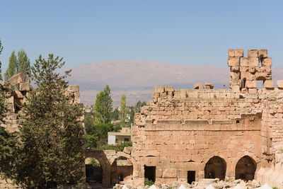
<path id="1" fill-rule="evenodd" d="M 30 59 L 22 49 L 18 52 L 17 74 L 25 74 L 25 81 L 28 81 L 28 72 L 30 71 Z"/>

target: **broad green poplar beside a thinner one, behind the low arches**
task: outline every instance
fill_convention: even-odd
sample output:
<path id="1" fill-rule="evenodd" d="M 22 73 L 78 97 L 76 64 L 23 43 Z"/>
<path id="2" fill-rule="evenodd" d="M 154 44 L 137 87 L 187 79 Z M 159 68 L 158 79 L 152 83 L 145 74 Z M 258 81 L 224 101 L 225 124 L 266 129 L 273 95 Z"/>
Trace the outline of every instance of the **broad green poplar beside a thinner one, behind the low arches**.
<path id="1" fill-rule="evenodd" d="M 111 91 L 108 85 L 103 91 L 96 95 L 96 104 L 94 105 L 96 124 L 105 124 L 111 122 L 112 99 Z"/>

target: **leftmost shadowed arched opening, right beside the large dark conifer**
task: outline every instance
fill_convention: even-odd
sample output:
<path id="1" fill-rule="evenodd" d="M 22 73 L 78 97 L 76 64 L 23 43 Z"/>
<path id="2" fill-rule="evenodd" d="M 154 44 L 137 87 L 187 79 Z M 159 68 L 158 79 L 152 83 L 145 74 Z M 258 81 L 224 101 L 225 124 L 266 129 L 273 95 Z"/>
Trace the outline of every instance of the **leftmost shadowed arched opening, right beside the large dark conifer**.
<path id="1" fill-rule="evenodd" d="M 89 185 L 101 185 L 102 184 L 102 167 L 97 159 L 87 158 L 86 164 L 86 183 Z"/>

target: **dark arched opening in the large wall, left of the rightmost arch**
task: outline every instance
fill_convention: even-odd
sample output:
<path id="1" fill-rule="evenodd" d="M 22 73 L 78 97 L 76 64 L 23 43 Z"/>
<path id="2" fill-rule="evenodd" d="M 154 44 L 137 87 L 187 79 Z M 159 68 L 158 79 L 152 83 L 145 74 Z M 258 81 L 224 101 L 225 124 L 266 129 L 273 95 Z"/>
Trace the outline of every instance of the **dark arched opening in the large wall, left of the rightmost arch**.
<path id="1" fill-rule="evenodd" d="M 219 156 L 213 156 L 204 167 L 204 178 L 219 178 L 224 180 L 226 174 L 226 161 Z"/>

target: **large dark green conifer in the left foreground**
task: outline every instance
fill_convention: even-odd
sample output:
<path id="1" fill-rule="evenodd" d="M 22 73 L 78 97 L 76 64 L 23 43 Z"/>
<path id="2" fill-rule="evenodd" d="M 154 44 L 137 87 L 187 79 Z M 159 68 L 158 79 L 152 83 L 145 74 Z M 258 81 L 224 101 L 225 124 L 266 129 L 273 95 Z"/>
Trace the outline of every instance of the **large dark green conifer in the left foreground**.
<path id="1" fill-rule="evenodd" d="M 64 94 L 71 70 L 55 72 L 63 65 L 59 57 L 49 55 L 45 60 L 40 55 L 31 68 L 30 79 L 37 88 L 24 104 L 13 170 L 13 180 L 23 188 L 55 188 L 83 181 L 83 109 L 70 104 Z"/>

